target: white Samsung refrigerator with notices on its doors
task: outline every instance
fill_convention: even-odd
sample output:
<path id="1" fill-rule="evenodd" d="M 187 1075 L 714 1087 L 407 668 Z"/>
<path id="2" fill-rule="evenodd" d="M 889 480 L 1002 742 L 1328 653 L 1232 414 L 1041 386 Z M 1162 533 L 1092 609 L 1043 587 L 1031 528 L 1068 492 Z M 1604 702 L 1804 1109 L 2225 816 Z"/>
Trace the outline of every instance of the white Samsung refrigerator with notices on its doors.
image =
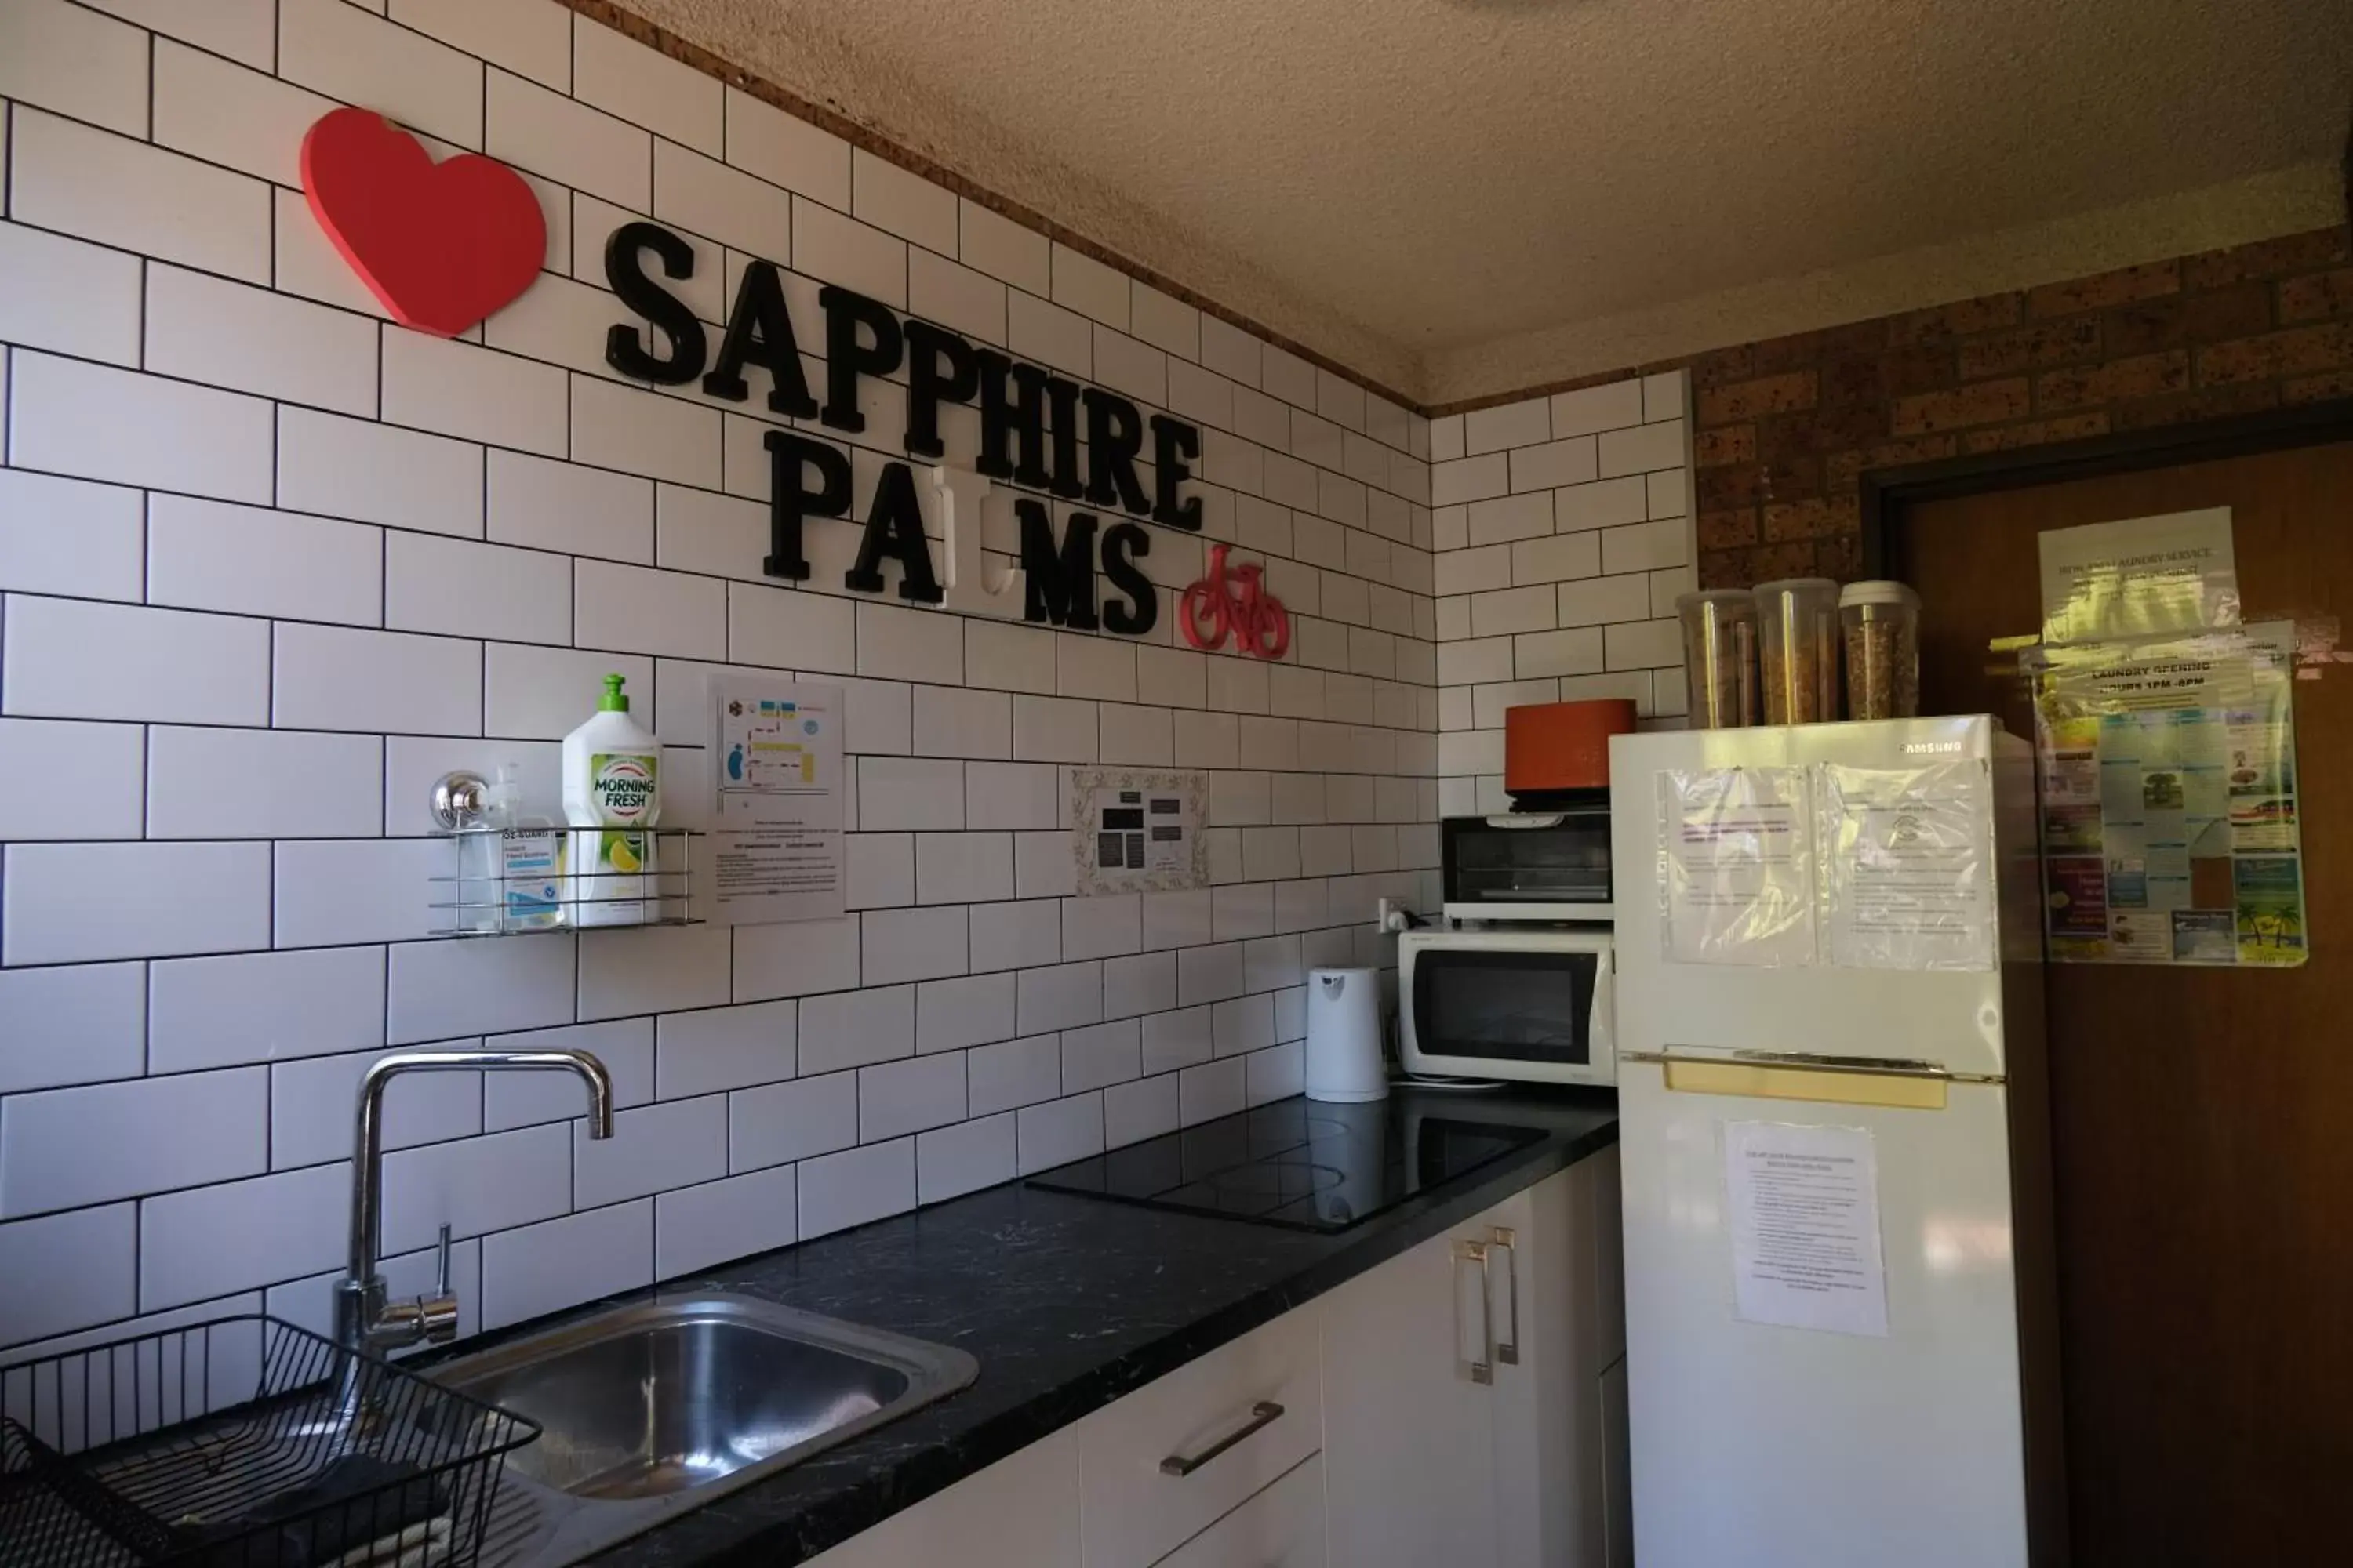
<path id="1" fill-rule="evenodd" d="M 1645 733 L 1609 788 L 1638 1561 L 2061 1561 L 2031 750 Z"/>

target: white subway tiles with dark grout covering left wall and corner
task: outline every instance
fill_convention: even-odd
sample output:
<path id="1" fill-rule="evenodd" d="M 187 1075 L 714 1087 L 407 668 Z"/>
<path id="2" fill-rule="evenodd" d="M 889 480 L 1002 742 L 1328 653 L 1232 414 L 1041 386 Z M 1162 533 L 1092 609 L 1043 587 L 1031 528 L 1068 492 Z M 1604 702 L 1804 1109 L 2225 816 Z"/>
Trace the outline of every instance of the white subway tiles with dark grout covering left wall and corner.
<path id="1" fill-rule="evenodd" d="M 1461 421 L 1433 440 L 555 0 L 7 12 L 0 759 L 52 788 L 0 823 L 0 1352 L 202 1300 L 322 1319 L 348 1086 L 386 1046 L 614 1072 L 612 1143 L 567 1079 L 395 1086 L 386 1244 L 414 1272 L 456 1229 L 466 1331 L 1294 1091 L 1304 966 L 1379 952 L 1348 931 L 1377 896 L 1435 900 L 1438 630 L 1487 623 L 1478 679 L 1511 682 L 1515 639 L 1598 628 L 1579 672 L 1661 705 L 1664 632 L 1609 635 L 1689 559 L 1659 524 L 1680 423 L 1640 397 L 1478 418 L 1480 470 L 1440 484 Z M 485 329 L 386 322 L 315 233 L 296 150 L 339 101 L 529 176 L 548 270 Z M 765 390 L 602 360 L 631 322 L 605 237 L 642 214 L 694 249 L 673 282 L 708 322 L 760 256 L 807 350 L 831 282 L 1202 425 L 1188 489 L 1264 559 L 1289 661 L 1181 646 L 1202 541 L 1158 524 L 1144 639 L 849 595 L 842 524 L 812 527 L 807 583 L 765 578 Z M 861 407 L 856 437 L 807 430 L 852 449 L 864 515 L 904 390 Z M 969 414 L 944 418 L 962 468 Z M 1497 550 L 1445 616 L 1433 489 L 1454 545 Z M 1513 571 L 1577 529 L 1598 543 Z M 1642 592 L 1579 590 L 1595 552 Z M 720 663 L 849 686 L 852 914 L 428 936 L 440 771 L 513 762 L 553 811 L 553 741 L 616 670 L 699 778 Z M 1071 898 L 1066 764 L 1096 759 L 1209 769 L 1217 889 Z"/>

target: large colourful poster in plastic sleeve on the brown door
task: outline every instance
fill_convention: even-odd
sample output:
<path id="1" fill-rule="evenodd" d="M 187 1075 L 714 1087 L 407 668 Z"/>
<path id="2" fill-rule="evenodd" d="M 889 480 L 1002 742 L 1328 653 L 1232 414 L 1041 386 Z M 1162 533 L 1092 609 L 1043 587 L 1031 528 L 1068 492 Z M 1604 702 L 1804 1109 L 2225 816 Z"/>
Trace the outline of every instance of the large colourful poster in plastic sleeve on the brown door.
<path id="1" fill-rule="evenodd" d="M 2301 964 L 2294 625 L 2038 649 L 2049 954 Z"/>

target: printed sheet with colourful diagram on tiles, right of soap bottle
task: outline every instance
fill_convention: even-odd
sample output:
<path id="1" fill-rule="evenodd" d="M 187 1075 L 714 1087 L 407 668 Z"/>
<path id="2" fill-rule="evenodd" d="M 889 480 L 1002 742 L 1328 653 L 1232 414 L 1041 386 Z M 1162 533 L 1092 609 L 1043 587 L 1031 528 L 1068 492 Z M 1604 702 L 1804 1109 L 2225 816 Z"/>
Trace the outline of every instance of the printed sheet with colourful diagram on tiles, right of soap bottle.
<path id="1" fill-rule="evenodd" d="M 711 677 L 713 919 L 842 912 L 842 689 Z"/>

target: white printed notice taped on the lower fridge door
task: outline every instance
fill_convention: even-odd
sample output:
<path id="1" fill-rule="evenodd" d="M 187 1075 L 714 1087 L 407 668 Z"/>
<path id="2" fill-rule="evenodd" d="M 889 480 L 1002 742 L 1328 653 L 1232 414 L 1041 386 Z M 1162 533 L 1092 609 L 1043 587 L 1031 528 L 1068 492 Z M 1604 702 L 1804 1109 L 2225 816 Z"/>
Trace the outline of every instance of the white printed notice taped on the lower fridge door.
<path id="1" fill-rule="evenodd" d="M 1727 1121 L 1725 1201 L 1734 1316 L 1887 1338 L 1871 1128 Z"/>

